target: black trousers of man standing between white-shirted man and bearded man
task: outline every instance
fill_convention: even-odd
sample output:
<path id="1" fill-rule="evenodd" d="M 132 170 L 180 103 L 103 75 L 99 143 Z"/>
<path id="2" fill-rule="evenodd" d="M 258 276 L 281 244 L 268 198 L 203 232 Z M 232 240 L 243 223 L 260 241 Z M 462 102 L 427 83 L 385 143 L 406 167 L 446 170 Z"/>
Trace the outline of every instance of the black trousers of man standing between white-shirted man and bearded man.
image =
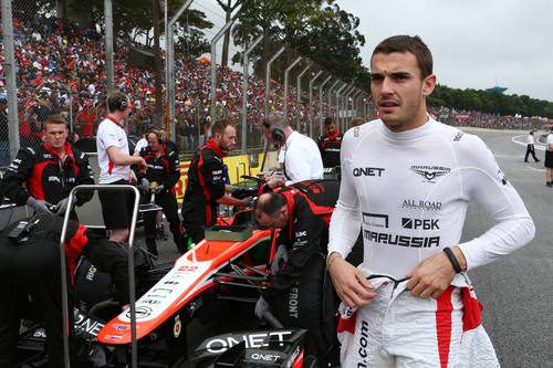
<path id="1" fill-rule="evenodd" d="M 165 218 L 169 222 L 169 230 L 173 233 L 173 240 L 180 253 L 186 251 L 182 241 L 182 224 L 178 217 L 177 198 L 171 192 L 164 190 L 156 194 L 156 204 L 163 209 Z M 156 211 L 149 211 L 144 214 L 144 232 L 146 235 L 146 244 L 148 250 L 154 254 L 157 253 L 156 246 Z"/>

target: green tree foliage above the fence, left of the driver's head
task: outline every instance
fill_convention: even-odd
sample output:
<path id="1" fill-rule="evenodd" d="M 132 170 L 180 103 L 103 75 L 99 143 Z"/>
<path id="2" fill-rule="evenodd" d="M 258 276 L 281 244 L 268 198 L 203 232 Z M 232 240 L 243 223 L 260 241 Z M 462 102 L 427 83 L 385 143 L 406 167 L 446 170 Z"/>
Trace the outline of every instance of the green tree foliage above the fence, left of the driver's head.
<path id="1" fill-rule="evenodd" d="M 365 38 L 357 31 L 359 19 L 341 10 L 334 0 L 243 0 L 234 43 L 247 48 L 259 34 L 263 42 L 251 54 L 254 72 L 264 75 L 264 63 L 286 44 L 343 81 L 356 81 L 368 88 L 368 71 L 362 65 L 361 48 Z M 282 70 L 280 57 L 273 65 Z M 236 54 L 233 62 L 240 62 Z"/>

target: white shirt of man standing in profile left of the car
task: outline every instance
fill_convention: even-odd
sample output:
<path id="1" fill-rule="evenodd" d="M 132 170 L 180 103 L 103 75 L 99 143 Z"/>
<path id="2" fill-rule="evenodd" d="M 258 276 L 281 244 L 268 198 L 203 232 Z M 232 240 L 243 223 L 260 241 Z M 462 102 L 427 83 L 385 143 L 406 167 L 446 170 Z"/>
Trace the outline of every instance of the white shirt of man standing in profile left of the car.
<path id="1" fill-rule="evenodd" d="M 122 154 L 128 155 L 127 134 L 123 127 L 109 117 L 100 123 L 96 134 L 96 149 L 98 154 L 100 180 L 98 183 L 112 183 L 117 180 L 128 180 L 131 166 L 115 165 L 107 156 L 107 148 L 117 147 Z"/>

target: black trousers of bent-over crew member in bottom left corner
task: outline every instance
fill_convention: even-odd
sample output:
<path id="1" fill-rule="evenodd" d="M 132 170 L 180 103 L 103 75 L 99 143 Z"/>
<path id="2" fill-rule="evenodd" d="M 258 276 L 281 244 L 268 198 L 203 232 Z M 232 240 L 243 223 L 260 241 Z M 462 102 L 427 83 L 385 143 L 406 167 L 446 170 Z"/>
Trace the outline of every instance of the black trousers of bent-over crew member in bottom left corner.
<path id="1" fill-rule="evenodd" d="M 44 322 L 49 367 L 63 367 L 60 254 L 56 243 L 36 241 L 13 244 L 7 239 L 0 240 L 0 367 L 13 366 L 28 295 L 31 295 L 33 307 Z M 72 317 L 70 313 L 70 319 Z"/>

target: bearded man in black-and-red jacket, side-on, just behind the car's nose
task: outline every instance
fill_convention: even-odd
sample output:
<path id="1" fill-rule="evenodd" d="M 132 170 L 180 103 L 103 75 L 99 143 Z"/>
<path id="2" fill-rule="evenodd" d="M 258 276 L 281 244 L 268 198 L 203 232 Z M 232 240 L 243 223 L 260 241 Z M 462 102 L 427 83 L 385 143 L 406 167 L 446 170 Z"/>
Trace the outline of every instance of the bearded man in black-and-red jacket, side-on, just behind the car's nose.
<path id="1" fill-rule="evenodd" d="M 233 198 L 233 187 L 225 183 L 222 158 L 234 147 L 237 130 L 229 120 L 218 120 L 211 134 L 190 164 L 182 202 L 182 223 L 196 244 L 205 238 L 206 229 L 216 223 L 219 204 L 251 204 L 251 198 Z"/>

